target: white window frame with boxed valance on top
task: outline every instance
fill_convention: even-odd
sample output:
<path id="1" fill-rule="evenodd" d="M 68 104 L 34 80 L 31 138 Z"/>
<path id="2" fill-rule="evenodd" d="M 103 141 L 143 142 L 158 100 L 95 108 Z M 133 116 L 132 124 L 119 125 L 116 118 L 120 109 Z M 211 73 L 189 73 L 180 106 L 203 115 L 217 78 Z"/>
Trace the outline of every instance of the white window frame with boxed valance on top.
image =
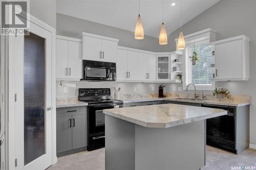
<path id="1" fill-rule="evenodd" d="M 201 45 L 201 44 L 207 44 L 209 42 L 212 42 L 212 41 L 216 41 L 216 31 L 213 30 L 213 29 L 205 29 L 205 30 L 202 30 L 202 31 L 199 31 L 199 32 L 196 32 L 196 33 L 193 33 L 193 34 L 189 34 L 189 35 L 186 35 L 184 38 L 185 38 L 185 43 L 186 45 L 187 44 L 191 44 L 191 43 L 196 43 L 196 45 Z M 176 43 L 177 43 L 178 39 L 176 39 Z M 186 49 L 186 48 L 185 48 Z M 183 90 L 186 89 L 186 80 L 187 80 L 187 76 L 189 76 L 188 72 L 187 72 L 187 65 L 186 65 L 186 60 L 188 59 L 186 57 L 186 53 L 185 53 L 185 50 L 183 50 L 183 58 L 184 58 L 184 79 L 183 79 L 183 83 L 182 83 L 182 86 L 183 86 Z M 213 59 L 212 59 L 213 60 Z M 191 75 L 190 75 L 191 76 Z M 197 90 L 214 90 L 215 89 L 215 82 L 212 81 L 212 85 L 209 86 L 209 85 L 196 85 L 196 88 Z M 188 90 L 194 90 L 194 86 L 189 86 L 188 87 Z"/>

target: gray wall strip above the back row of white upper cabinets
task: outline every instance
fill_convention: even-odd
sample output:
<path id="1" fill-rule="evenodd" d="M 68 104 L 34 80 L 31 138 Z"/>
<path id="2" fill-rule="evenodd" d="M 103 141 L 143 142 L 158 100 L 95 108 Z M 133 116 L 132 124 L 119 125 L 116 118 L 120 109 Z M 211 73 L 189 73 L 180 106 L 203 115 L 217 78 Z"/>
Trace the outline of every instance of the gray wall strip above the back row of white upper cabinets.
<path id="1" fill-rule="evenodd" d="M 118 45 L 140 50 L 161 52 L 163 48 L 158 44 L 158 38 L 144 36 L 143 40 L 136 40 L 134 32 L 57 13 L 57 35 L 78 38 L 82 32 L 117 38 L 119 39 Z"/>

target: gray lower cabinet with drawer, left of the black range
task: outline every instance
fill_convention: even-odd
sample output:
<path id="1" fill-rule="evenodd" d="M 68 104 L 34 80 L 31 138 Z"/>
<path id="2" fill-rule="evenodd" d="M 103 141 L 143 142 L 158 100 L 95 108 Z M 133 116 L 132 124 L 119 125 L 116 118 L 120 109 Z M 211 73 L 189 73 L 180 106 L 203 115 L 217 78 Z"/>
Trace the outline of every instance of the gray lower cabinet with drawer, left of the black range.
<path id="1" fill-rule="evenodd" d="M 57 108 L 57 156 L 86 150 L 86 106 Z"/>

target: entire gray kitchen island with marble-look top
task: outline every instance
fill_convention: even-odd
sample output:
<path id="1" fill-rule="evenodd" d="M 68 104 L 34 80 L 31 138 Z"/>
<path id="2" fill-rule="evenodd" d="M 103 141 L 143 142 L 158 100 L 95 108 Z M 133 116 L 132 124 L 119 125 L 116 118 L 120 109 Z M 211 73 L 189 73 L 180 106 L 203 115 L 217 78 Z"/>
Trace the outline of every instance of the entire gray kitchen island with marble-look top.
<path id="1" fill-rule="evenodd" d="M 227 111 L 176 104 L 103 110 L 105 169 L 200 169 L 205 119 Z"/>

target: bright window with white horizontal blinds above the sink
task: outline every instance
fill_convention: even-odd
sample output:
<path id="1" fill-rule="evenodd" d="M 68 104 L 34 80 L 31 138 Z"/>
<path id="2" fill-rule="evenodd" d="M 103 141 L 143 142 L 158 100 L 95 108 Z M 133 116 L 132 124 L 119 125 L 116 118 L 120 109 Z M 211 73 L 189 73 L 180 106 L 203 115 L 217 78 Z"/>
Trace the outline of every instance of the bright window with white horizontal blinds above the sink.
<path id="1" fill-rule="evenodd" d="M 207 37 L 190 40 L 185 48 L 185 86 L 193 83 L 198 90 L 213 90 L 215 83 L 211 81 L 211 45 L 207 45 L 209 39 Z M 193 52 L 198 54 L 199 61 L 196 65 L 192 65 L 190 56 Z M 190 87 L 189 89 L 194 88 Z"/>

